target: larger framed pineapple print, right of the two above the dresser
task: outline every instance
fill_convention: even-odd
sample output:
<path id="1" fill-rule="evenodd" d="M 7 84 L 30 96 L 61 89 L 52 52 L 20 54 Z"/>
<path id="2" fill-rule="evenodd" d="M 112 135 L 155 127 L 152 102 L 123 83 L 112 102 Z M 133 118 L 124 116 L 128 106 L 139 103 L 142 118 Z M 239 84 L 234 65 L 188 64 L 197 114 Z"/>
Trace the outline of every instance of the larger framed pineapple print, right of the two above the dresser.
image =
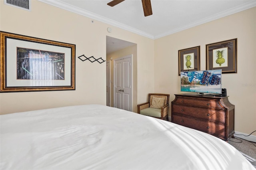
<path id="1" fill-rule="evenodd" d="M 206 45 L 206 69 L 237 73 L 237 38 Z"/>

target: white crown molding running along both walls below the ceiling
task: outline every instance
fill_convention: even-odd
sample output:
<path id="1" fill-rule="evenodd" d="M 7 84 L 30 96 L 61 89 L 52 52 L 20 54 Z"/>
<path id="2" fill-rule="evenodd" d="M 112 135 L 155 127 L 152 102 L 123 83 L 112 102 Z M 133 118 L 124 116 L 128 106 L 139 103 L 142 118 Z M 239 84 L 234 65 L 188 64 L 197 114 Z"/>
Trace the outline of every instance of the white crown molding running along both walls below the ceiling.
<path id="1" fill-rule="evenodd" d="M 179 28 L 175 28 L 175 29 L 172 29 L 168 32 L 165 32 L 164 34 L 159 34 L 157 36 L 154 36 L 152 34 L 148 34 L 146 32 L 143 32 L 141 30 L 138 30 L 138 29 L 135 29 L 133 27 L 130 27 L 130 26 L 127 26 L 125 24 L 122 24 L 120 22 L 116 22 L 114 20 L 111 20 L 109 18 L 106 18 L 104 16 L 100 16 L 98 14 L 94 14 L 92 12 L 89 12 L 89 11 L 86 11 L 86 10 L 83 10 L 81 8 L 78 8 L 78 7 L 75 7 L 75 6 L 71 6 L 70 4 L 66 4 L 65 2 L 60 2 L 58 0 L 39 0 L 40 2 L 44 2 L 46 4 L 50 4 L 52 6 L 56 6 L 58 8 L 62 8 L 64 10 L 68 10 L 70 12 L 74 12 L 76 14 L 80 14 L 82 16 L 86 16 L 88 18 L 92 18 L 94 20 L 98 20 L 100 22 L 104 22 L 106 24 L 110 24 L 112 26 L 116 26 L 118 28 L 122 28 L 124 30 L 127 30 L 127 31 L 130 31 L 130 32 L 133 32 L 135 34 L 138 34 L 138 35 L 141 35 L 141 36 L 144 36 L 144 37 L 147 37 L 147 38 L 150 38 L 150 39 L 158 39 L 158 38 L 162 38 L 164 36 L 168 36 L 170 34 L 174 34 L 176 32 L 180 32 L 182 30 L 186 30 L 188 28 L 192 28 L 194 26 L 198 26 L 198 25 L 201 25 L 201 24 L 204 24 L 206 22 L 210 22 L 210 21 L 213 21 L 213 20 L 216 20 L 216 19 L 219 19 L 219 18 L 222 18 L 222 17 L 225 17 L 225 16 L 228 16 L 228 15 L 231 15 L 231 14 L 235 14 L 237 12 L 241 12 L 243 10 L 247 10 L 249 8 L 253 8 L 256 6 L 256 1 L 249 1 L 245 4 L 242 4 L 236 8 L 232 8 L 230 10 L 226 10 L 224 12 L 220 12 L 218 14 L 215 14 L 215 15 L 212 15 L 210 17 L 207 17 L 207 18 L 204 18 L 202 20 L 198 20 L 196 22 L 192 22 L 190 24 L 186 24 L 185 26 L 181 26 Z"/>

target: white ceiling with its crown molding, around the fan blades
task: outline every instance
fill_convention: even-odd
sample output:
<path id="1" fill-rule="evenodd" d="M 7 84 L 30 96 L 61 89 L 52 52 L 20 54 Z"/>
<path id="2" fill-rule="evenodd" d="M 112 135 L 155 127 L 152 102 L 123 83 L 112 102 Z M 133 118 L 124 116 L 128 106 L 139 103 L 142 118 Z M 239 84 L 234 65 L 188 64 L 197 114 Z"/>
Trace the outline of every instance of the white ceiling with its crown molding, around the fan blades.
<path id="1" fill-rule="evenodd" d="M 114 7 L 107 5 L 112 0 L 40 1 L 151 39 L 256 6 L 256 0 L 151 0 L 153 15 L 145 17 L 141 0 L 125 0 Z"/>

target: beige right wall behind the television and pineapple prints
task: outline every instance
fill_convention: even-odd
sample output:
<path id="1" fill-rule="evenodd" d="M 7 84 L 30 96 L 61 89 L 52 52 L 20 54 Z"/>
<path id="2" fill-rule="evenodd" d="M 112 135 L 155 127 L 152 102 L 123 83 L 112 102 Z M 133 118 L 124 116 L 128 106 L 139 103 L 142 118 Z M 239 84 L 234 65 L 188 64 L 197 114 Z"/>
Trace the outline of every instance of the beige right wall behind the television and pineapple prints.
<path id="1" fill-rule="evenodd" d="M 201 70 L 206 69 L 206 44 L 237 38 L 237 73 L 222 74 L 235 105 L 235 131 L 256 130 L 256 8 L 251 8 L 176 34 L 155 40 L 155 92 L 180 92 L 178 50 L 200 45 Z"/>

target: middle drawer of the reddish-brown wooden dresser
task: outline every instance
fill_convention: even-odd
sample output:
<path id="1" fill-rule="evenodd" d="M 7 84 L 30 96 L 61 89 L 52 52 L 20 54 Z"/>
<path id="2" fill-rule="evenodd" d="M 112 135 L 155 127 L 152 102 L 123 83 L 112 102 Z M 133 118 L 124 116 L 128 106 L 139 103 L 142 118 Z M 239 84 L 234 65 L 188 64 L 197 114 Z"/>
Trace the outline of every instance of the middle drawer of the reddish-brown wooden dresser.
<path id="1" fill-rule="evenodd" d="M 226 123 L 226 113 L 225 111 L 216 111 L 214 109 L 201 109 L 197 107 L 190 107 L 186 105 L 172 105 L 172 112 L 179 113 L 182 115 L 188 115 L 191 117 L 196 117 L 200 119 L 205 119 L 206 121 L 215 121 L 219 123 Z"/>

